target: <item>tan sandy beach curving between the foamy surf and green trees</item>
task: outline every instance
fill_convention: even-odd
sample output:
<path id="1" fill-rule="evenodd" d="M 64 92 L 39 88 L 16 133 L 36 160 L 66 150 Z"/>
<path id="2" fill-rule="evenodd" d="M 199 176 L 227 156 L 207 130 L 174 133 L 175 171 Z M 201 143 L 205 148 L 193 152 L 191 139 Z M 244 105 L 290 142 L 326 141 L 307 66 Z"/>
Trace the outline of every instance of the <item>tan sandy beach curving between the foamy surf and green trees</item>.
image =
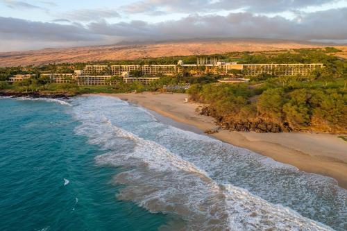
<path id="1" fill-rule="evenodd" d="M 187 94 L 99 94 L 115 96 L 200 130 L 215 128 L 212 117 L 196 112 L 197 103 L 185 103 Z M 213 137 L 291 164 L 308 173 L 318 173 L 337 180 L 347 189 L 347 142 L 337 135 L 316 133 L 255 133 L 221 130 Z"/>

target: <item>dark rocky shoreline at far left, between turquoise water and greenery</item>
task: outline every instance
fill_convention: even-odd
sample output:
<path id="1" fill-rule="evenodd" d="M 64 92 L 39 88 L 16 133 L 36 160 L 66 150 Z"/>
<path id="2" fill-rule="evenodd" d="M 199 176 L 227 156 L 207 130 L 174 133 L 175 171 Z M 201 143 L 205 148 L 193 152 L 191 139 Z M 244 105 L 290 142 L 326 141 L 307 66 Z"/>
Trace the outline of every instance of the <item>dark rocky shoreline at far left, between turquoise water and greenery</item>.
<path id="1" fill-rule="evenodd" d="M 12 96 L 12 97 L 31 97 L 31 98 L 49 98 L 49 99 L 69 99 L 76 96 L 71 93 L 56 93 L 56 92 L 12 92 L 12 91 L 0 91 L 0 96 Z"/>

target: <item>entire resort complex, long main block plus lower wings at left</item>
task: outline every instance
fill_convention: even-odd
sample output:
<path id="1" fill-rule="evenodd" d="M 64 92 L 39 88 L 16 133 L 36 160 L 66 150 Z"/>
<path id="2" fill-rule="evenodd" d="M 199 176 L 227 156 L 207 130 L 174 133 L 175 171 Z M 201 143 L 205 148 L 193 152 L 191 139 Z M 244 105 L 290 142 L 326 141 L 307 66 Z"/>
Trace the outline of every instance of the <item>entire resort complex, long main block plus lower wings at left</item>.
<path id="1" fill-rule="evenodd" d="M 75 70 L 74 74 L 41 74 L 48 76 L 51 83 L 77 83 L 78 85 L 112 85 L 112 76 L 123 78 L 124 83 L 150 84 L 160 79 L 158 76 L 174 76 L 188 74 L 201 76 L 203 74 L 218 74 L 226 76 L 220 83 L 242 83 L 246 79 L 236 76 L 257 76 L 271 74 L 275 76 L 307 76 L 316 68 L 323 68 L 321 63 L 310 64 L 237 64 L 236 62 L 221 62 L 218 57 L 200 56 L 196 64 L 185 64 L 182 60 L 177 65 L 87 65 L 83 70 Z M 135 77 L 135 76 L 139 77 Z M 31 78 L 33 74 L 22 74 L 10 77 L 9 82 L 19 82 Z"/>

